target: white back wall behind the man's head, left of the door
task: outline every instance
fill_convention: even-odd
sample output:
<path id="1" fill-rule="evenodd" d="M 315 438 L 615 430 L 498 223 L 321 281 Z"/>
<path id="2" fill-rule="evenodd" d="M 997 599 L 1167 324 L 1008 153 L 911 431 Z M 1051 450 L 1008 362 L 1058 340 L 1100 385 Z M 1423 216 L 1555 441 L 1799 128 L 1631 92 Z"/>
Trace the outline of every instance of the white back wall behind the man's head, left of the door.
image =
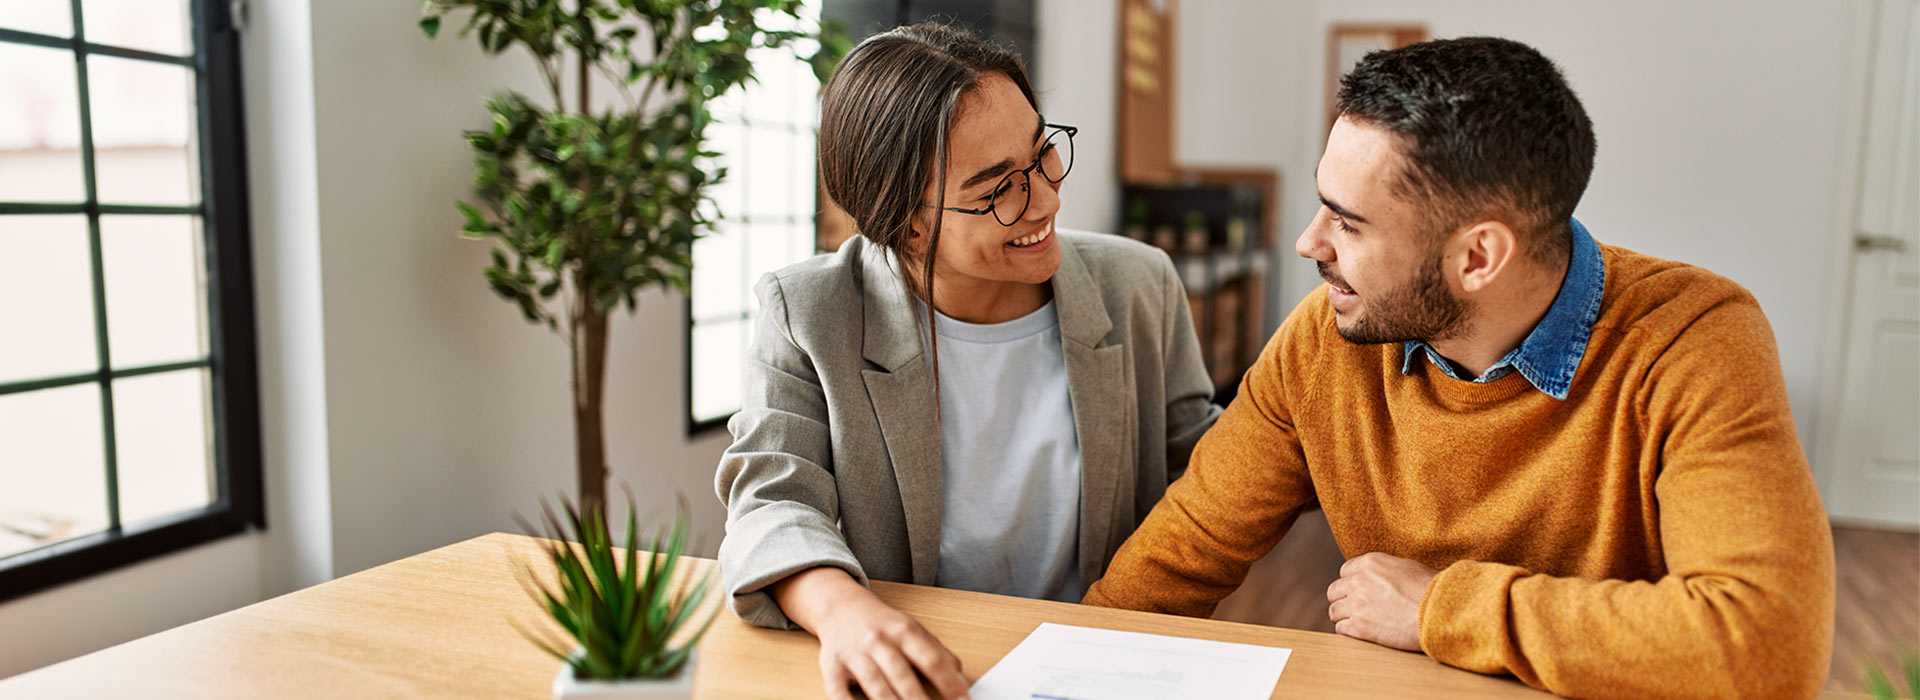
<path id="1" fill-rule="evenodd" d="M 1116 8 L 1043 2 L 1043 19 L 1058 19 L 1039 27 L 1044 65 L 1071 56 L 1085 63 L 1071 79 L 1100 86 L 1056 86 L 1069 100 L 1048 102 L 1048 111 L 1112 113 Z M 1319 284 L 1292 253 L 1292 238 L 1317 209 L 1327 27 L 1363 21 L 1425 23 L 1436 38 L 1509 36 L 1559 61 L 1599 138 L 1576 217 L 1601 242 L 1701 265 L 1751 290 L 1774 324 L 1793 416 L 1816 455 L 1822 322 L 1837 311 L 1828 263 L 1845 245 L 1845 232 L 1834 230 L 1834 182 L 1847 4 L 1179 2 L 1175 153 L 1196 165 L 1281 171 L 1279 313 Z M 1071 100 L 1089 104 L 1062 104 Z M 1100 138 L 1087 138 L 1083 152 Z M 1092 199 L 1081 198 L 1064 221 L 1069 211 L 1089 217 L 1071 209 Z M 1110 224 L 1110 209 L 1096 221 Z"/>

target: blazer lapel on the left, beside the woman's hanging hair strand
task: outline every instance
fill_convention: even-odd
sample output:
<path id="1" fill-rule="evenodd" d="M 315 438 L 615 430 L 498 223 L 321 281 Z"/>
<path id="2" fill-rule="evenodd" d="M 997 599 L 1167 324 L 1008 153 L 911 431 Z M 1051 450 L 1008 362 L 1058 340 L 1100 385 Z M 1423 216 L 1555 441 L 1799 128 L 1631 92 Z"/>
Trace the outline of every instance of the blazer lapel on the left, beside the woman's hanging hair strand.
<path id="1" fill-rule="evenodd" d="M 900 487 L 914 583 L 933 585 L 941 562 L 941 422 L 920 338 L 925 320 L 883 247 L 868 244 L 862 263 L 866 328 L 860 355 L 879 368 L 862 370 L 860 378 Z"/>

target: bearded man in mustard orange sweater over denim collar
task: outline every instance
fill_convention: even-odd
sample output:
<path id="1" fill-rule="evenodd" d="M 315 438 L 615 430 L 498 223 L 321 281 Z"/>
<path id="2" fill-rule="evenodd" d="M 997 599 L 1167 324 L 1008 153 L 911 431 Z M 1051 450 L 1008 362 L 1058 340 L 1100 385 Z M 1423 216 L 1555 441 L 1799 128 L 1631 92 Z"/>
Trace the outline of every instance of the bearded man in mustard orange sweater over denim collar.
<path id="1" fill-rule="evenodd" d="M 1592 123 L 1524 44 L 1371 54 L 1338 109 L 1327 286 L 1085 602 L 1208 616 L 1319 502 L 1342 635 L 1569 696 L 1818 692 L 1832 533 L 1753 295 L 1572 221 Z"/>

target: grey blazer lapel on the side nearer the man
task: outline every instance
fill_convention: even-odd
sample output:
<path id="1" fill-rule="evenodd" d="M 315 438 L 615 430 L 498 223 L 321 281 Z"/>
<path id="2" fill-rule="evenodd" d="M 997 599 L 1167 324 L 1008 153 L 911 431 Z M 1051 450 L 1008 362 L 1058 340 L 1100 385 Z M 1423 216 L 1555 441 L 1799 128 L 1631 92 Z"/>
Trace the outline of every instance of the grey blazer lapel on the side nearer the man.
<path id="1" fill-rule="evenodd" d="M 1127 403 L 1127 347 L 1106 341 L 1114 318 L 1073 245 L 1060 247 L 1054 303 L 1081 449 L 1079 568 L 1087 585 L 1104 573 L 1106 556 L 1117 545 L 1112 537 L 1114 493 L 1119 479 L 1133 478 L 1135 407 Z"/>

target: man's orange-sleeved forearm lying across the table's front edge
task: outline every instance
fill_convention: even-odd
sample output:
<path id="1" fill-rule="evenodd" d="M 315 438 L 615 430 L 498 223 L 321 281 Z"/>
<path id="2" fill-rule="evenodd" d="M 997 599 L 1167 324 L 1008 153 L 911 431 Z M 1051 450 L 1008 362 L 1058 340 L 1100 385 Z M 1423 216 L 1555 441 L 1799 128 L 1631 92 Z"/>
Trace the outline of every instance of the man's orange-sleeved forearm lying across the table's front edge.
<path id="1" fill-rule="evenodd" d="M 1809 566 L 1807 577 L 1820 575 Z M 1832 570 L 1826 570 L 1828 579 Z M 1582 698 L 1797 698 L 1826 677 L 1832 608 L 1732 575 L 1530 575 L 1457 562 L 1421 604 L 1421 648 Z M 1828 598 L 1830 600 L 1830 598 Z M 1822 610 L 1826 614 L 1822 614 Z"/>

